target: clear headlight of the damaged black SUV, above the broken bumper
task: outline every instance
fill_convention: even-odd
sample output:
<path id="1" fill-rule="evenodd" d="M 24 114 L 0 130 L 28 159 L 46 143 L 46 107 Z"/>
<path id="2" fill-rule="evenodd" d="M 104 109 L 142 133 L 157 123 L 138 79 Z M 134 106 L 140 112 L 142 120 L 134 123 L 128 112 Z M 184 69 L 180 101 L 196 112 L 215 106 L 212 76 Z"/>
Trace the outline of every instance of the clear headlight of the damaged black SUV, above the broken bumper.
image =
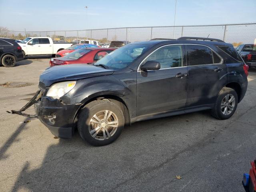
<path id="1" fill-rule="evenodd" d="M 49 96 L 53 99 L 58 99 L 64 96 L 64 94 L 68 93 L 70 90 L 72 90 L 75 85 L 76 81 L 65 81 L 55 83 L 52 86 L 50 86 L 50 89 L 48 90 L 46 96 Z"/>

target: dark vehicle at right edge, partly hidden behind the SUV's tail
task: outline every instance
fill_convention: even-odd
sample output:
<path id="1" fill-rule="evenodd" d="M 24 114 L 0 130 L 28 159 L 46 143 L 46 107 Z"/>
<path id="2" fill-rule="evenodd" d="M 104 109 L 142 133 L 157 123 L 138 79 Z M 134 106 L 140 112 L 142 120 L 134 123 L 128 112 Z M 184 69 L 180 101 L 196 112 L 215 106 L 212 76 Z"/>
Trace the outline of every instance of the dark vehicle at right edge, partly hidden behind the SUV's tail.
<path id="1" fill-rule="evenodd" d="M 242 44 L 236 50 L 249 67 L 256 68 L 256 44 Z"/>

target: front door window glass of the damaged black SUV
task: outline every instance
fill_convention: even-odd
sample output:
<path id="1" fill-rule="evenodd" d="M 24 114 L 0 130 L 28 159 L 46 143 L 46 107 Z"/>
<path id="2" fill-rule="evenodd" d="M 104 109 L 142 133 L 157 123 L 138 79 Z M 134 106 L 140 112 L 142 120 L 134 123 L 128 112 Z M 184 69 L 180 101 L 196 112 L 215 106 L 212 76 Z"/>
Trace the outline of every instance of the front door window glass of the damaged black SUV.
<path id="1" fill-rule="evenodd" d="M 147 61 L 157 61 L 160 63 L 160 68 L 172 68 L 182 66 L 182 46 L 172 45 L 158 49 L 151 54 Z"/>

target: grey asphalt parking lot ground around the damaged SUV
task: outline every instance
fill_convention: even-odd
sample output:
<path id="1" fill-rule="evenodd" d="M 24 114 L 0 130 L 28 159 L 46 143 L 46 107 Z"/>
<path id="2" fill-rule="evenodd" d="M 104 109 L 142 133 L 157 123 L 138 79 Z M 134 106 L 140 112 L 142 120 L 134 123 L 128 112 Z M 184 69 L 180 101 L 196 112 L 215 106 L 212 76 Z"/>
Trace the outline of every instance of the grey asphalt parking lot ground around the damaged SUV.
<path id="1" fill-rule="evenodd" d="M 49 58 L 29 58 L 0 67 L 0 84 L 10 83 L 0 86 L 1 192 L 244 191 L 242 174 L 256 158 L 255 72 L 228 120 L 203 111 L 136 122 L 116 142 L 94 147 L 77 132 L 56 139 L 39 120 L 5 112 L 34 96 L 48 66 Z"/>

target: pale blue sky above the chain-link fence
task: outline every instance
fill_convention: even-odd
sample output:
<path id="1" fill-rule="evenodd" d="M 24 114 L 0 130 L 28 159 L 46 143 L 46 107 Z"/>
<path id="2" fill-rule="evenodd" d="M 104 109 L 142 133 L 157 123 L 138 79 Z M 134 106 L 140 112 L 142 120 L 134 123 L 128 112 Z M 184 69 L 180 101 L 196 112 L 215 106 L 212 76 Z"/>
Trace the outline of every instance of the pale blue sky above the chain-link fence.
<path id="1" fill-rule="evenodd" d="M 175 0 L 0 0 L 0 26 L 18 31 L 173 26 L 174 12 Z M 255 12 L 256 0 L 177 0 L 176 25 L 256 22 L 248 14 Z"/>

